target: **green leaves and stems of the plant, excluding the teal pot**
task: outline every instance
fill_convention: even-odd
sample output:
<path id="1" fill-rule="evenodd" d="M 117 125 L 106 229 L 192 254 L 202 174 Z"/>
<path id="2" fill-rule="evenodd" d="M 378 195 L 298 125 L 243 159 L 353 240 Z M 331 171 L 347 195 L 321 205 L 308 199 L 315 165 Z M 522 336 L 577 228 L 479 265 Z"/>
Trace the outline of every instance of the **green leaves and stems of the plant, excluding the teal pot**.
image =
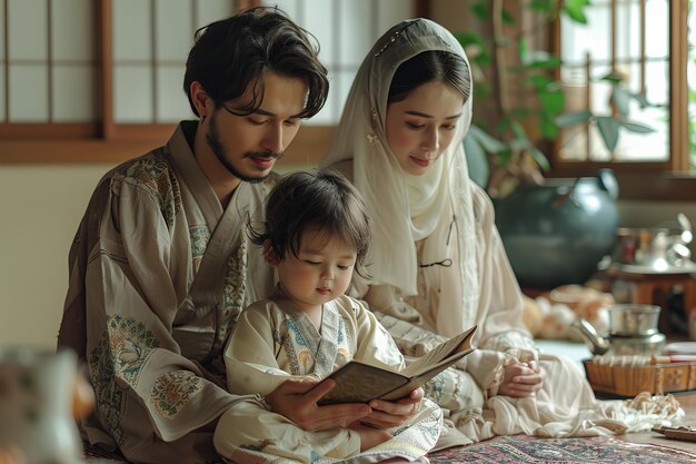
<path id="1" fill-rule="evenodd" d="M 648 102 L 625 88 L 619 72 L 597 79 L 612 85 L 609 113 L 565 112 L 565 96 L 557 79 L 560 58 L 529 46 L 529 30 L 547 31 L 561 16 L 587 23 L 585 9 L 589 0 L 521 0 L 513 4 L 531 13 L 534 19 L 526 28 L 515 23 L 515 14 L 505 9 L 503 0 L 479 0 L 470 7 L 478 30 L 455 33 L 470 59 L 477 101 L 471 130 L 465 140 L 467 158 L 473 178 L 485 185 L 491 197 L 507 196 L 519 182 L 541 184 L 543 172 L 549 169 L 544 150 L 563 128 L 580 124 L 597 126 L 608 151 L 616 148 L 620 130 L 654 131 L 628 118 L 632 99 L 640 107 Z M 508 89 L 504 82 L 510 76 L 525 98 L 509 101 L 505 95 Z"/>

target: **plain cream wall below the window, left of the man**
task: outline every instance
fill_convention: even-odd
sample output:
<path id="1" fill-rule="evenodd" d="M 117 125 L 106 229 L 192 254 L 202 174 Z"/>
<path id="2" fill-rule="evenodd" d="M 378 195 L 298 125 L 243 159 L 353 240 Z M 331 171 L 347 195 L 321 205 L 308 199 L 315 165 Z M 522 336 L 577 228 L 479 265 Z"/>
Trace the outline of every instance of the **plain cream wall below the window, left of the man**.
<path id="1" fill-rule="evenodd" d="M 56 346 L 70 244 L 97 181 L 111 167 L 0 166 L 0 346 Z"/>

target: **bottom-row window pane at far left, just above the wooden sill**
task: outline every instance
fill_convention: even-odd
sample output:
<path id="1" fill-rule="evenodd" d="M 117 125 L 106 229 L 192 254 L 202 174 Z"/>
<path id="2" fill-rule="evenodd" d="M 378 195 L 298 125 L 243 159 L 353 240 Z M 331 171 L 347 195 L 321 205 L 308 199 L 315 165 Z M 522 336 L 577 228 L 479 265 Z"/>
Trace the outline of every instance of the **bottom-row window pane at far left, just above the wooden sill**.
<path id="1" fill-rule="evenodd" d="M 46 65 L 10 66 L 9 122 L 47 122 L 48 67 Z"/>

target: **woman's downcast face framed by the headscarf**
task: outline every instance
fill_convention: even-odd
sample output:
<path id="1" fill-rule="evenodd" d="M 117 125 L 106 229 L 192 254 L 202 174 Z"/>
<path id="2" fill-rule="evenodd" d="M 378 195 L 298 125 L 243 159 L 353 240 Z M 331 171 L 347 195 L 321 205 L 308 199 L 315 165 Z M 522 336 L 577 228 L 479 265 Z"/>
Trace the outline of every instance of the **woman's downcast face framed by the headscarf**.
<path id="1" fill-rule="evenodd" d="M 387 144 L 401 169 L 419 176 L 451 144 L 464 109 L 464 96 L 454 87 L 430 81 L 387 107 Z"/>

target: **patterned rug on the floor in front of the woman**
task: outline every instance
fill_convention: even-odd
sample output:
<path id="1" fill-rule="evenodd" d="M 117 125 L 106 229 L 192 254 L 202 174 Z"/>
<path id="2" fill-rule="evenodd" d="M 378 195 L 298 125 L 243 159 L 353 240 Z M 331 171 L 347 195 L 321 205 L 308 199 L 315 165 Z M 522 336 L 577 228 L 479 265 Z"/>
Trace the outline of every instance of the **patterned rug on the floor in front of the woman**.
<path id="1" fill-rule="evenodd" d="M 587 438 L 535 438 L 527 435 L 500 436 L 487 442 L 445 450 L 428 455 L 431 464 L 686 464 L 696 454 L 682 450 L 627 443 L 594 436 Z"/>

